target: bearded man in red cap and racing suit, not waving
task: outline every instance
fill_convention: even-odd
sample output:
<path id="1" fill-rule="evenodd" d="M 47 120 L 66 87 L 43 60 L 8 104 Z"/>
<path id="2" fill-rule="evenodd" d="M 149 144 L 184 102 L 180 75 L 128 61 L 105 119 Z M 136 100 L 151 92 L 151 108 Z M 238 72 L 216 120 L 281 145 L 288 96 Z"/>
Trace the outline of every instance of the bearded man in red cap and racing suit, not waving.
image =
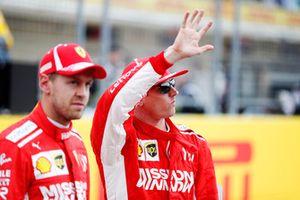
<path id="1" fill-rule="evenodd" d="M 60 44 L 41 60 L 41 99 L 0 134 L 0 199 L 89 199 L 89 163 L 73 130 L 104 69 L 77 44 Z"/>

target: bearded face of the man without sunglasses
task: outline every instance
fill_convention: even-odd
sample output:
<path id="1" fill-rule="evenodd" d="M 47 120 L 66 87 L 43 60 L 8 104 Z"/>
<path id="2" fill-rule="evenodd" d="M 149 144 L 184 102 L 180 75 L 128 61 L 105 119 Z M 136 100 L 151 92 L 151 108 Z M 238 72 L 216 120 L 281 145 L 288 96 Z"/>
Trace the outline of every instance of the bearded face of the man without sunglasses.
<path id="1" fill-rule="evenodd" d="M 49 117 L 62 124 L 81 118 L 87 106 L 93 82 L 91 71 L 74 76 L 52 75 L 49 80 Z"/>

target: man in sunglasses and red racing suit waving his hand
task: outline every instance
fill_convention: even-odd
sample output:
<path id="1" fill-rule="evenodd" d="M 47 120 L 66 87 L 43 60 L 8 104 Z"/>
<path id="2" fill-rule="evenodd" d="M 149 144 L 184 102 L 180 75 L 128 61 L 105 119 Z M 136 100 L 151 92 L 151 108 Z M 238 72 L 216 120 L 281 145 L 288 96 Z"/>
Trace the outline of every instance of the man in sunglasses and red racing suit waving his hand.
<path id="1" fill-rule="evenodd" d="M 178 93 L 173 78 L 187 70 L 170 73 L 168 68 L 213 48 L 198 46 L 211 26 L 196 31 L 202 15 L 186 13 L 171 47 L 129 64 L 100 98 L 91 141 L 106 199 L 218 198 L 206 140 L 169 118 Z"/>

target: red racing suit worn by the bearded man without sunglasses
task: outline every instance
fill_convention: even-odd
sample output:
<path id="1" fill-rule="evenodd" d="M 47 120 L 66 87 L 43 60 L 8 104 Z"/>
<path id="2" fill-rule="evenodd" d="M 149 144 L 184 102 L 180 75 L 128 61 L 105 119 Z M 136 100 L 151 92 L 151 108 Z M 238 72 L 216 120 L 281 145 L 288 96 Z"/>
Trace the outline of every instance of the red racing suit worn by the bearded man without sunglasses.
<path id="1" fill-rule="evenodd" d="M 89 199 L 89 163 L 72 129 L 58 128 L 40 103 L 0 135 L 0 199 Z"/>

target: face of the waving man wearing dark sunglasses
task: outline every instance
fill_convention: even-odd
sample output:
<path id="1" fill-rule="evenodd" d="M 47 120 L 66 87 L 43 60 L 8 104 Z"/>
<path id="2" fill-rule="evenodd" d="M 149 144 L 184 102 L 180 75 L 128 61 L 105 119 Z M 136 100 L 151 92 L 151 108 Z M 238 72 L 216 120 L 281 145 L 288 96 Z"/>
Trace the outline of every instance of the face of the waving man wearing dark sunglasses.
<path id="1" fill-rule="evenodd" d="M 154 119 L 171 117 L 175 114 L 175 97 L 177 94 L 174 79 L 155 85 L 142 100 L 142 109 Z"/>

